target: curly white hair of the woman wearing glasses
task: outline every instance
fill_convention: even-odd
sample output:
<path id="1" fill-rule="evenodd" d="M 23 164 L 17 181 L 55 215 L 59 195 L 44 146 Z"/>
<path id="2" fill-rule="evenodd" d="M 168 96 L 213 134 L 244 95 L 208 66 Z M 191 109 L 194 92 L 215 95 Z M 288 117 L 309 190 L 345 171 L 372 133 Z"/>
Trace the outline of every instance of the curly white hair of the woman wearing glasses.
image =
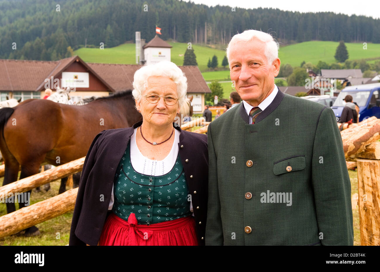
<path id="1" fill-rule="evenodd" d="M 133 76 L 132 95 L 136 101 L 140 101 L 142 92 L 146 90 L 147 79 L 150 76 L 167 76 L 177 85 L 179 106 L 185 101 L 187 92 L 187 79 L 182 70 L 173 62 L 167 60 L 155 64 L 144 65 L 135 72 Z"/>

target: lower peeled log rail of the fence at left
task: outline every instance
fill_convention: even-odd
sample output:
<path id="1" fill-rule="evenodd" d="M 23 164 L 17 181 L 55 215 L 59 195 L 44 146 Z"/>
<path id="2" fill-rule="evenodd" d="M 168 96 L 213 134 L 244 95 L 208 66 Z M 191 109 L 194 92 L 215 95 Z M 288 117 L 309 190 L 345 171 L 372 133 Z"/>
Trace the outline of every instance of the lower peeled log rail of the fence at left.
<path id="1" fill-rule="evenodd" d="M 0 238 L 73 210 L 77 193 L 78 188 L 70 189 L 60 195 L 3 215 L 0 217 Z"/>

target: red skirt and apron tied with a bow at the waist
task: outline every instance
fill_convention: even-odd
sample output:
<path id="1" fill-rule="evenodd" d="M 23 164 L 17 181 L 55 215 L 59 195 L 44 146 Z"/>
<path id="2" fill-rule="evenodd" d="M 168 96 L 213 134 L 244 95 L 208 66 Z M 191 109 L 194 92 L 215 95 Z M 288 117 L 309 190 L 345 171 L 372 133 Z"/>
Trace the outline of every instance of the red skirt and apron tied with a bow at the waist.
<path id="1" fill-rule="evenodd" d="M 138 225 L 135 213 L 128 222 L 114 213 L 108 215 L 100 245 L 198 245 L 192 216 L 157 224 Z"/>

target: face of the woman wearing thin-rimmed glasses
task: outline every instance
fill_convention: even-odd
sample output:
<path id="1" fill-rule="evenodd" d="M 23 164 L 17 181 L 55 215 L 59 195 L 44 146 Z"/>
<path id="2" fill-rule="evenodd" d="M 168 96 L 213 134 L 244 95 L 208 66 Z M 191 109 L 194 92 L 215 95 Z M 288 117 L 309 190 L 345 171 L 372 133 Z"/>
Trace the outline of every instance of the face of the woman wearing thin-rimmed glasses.
<path id="1" fill-rule="evenodd" d="M 136 101 L 136 108 L 141 112 L 143 122 L 156 126 L 165 126 L 173 123 L 179 112 L 178 101 L 174 105 L 167 105 L 163 97 L 157 103 L 150 103 L 144 95 L 157 94 L 159 96 L 172 96 L 178 98 L 177 85 L 170 77 L 150 76 L 147 79 L 146 90 L 142 93 L 140 101 Z"/>

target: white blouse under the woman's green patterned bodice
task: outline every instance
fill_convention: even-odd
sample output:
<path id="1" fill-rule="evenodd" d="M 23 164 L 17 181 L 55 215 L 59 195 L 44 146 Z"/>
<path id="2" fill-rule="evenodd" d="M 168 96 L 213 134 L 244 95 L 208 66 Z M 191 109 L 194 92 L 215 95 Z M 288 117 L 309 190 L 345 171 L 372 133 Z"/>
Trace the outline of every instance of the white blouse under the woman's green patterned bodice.
<path id="1" fill-rule="evenodd" d="M 138 129 L 139 128 L 135 128 L 133 130 L 133 134 L 130 140 L 131 154 L 133 154 L 133 156 L 131 156 L 131 164 L 133 168 L 136 170 L 136 172 L 139 172 L 140 174 L 144 174 L 144 175 L 161 176 L 161 175 L 168 174 L 177 161 L 177 156 L 178 156 L 178 151 L 179 151 L 178 143 L 179 143 L 180 131 L 174 129 L 173 146 L 171 147 L 169 154 L 163 160 L 158 161 L 158 160 L 150 160 L 149 158 L 144 157 L 144 155 L 141 154 L 136 143 L 136 134 L 137 134 Z M 113 206 L 114 206 L 114 187 L 112 185 L 112 193 L 111 193 L 111 199 L 108 205 L 108 210 L 112 210 Z M 193 212 L 193 205 L 191 201 L 190 201 L 190 211 Z"/>

